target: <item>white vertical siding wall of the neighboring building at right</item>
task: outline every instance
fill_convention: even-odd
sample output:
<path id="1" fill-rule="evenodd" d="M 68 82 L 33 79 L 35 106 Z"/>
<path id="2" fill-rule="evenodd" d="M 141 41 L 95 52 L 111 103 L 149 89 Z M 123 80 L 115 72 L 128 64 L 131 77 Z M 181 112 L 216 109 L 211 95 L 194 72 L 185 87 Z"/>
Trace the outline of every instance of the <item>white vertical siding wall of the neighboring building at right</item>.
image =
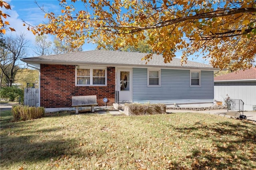
<path id="1" fill-rule="evenodd" d="M 252 106 L 256 105 L 256 81 L 214 83 L 215 100 L 224 102 L 227 94 L 230 99 L 241 99 L 245 111 L 252 111 Z"/>

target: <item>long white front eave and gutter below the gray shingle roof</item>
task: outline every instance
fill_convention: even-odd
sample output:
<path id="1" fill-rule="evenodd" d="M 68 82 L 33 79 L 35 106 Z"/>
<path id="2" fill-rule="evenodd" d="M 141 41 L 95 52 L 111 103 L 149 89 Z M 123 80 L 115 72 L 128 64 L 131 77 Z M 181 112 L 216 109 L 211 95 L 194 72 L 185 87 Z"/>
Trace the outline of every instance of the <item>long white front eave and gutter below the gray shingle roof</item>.
<path id="1" fill-rule="evenodd" d="M 218 68 L 212 67 L 189 67 L 189 66 L 168 66 L 168 65 L 150 65 L 150 64 L 120 64 L 120 63 L 96 63 L 96 62 L 77 62 L 77 61 L 59 61 L 59 60 L 42 60 L 42 59 L 29 59 L 23 58 L 29 64 L 58 64 L 58 65 L 111 65 L 111 66 L 130 66 L 130 67 L 158 67 L 158 68 L 174 68 L 174 69 L 200 69 L 209 71 L 218 71 Z"/>

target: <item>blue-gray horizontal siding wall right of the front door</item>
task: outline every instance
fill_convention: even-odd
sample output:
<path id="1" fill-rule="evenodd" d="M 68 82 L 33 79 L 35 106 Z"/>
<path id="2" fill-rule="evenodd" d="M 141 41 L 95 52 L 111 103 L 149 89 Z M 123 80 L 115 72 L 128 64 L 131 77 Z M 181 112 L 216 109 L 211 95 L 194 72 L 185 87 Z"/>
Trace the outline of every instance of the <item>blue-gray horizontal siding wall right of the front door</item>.
<path id="1" fill-rule="evenodd" d="M 147 69 L 133 68 L 133 101 L 180 101 L 214 99 L 213 71 L 201 71 L 201 86 L 190 86 L 190 70 L 161 69 L 161 86 L 147 86 Z"/>

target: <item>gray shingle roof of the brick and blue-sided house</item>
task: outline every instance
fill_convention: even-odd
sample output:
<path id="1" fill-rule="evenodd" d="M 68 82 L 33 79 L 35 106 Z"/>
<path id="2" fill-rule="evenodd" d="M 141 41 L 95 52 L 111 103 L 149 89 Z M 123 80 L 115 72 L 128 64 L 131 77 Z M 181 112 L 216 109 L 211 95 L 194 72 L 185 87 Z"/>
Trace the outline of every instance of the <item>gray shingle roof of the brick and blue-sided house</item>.
<path id="1" fill-rule="evenodd" d="M 108 50 L 93 50 L 80 51 L 74 53 L 45 55 L 40 57 L 28 57 L 21 59 L 26 63 L 59 63 L 59 64 L 96 64 L 96 65 L 136 65 L 140 67 L 195 67 L 216 70 L 212 66 L 197 63 L 194 61 L 187 61 L 181 66 L 180 59 L 173 58 L 170 63 L 164 63 L 162 55 L 153 55 L 153 59 L 145 65 L 146 61 L 141 60 L 147 53 L 139 52 L 125 52 L 125 51 L 108 51 Z"/>

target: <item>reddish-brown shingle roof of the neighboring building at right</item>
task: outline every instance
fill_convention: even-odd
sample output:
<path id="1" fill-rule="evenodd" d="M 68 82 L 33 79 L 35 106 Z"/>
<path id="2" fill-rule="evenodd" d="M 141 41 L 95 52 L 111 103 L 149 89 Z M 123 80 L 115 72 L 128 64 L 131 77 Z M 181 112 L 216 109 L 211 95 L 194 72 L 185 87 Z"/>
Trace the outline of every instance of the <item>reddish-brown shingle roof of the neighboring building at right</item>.
<path id="1" fill-rule="evenodd" d="M 228 81 L 228 80 L 250 80 L 256 79 L 256 68 L 251 67 L 246 70 L 239 70 L 237 72 L 228 73 L 214 77 L 214 81 Z"/>

